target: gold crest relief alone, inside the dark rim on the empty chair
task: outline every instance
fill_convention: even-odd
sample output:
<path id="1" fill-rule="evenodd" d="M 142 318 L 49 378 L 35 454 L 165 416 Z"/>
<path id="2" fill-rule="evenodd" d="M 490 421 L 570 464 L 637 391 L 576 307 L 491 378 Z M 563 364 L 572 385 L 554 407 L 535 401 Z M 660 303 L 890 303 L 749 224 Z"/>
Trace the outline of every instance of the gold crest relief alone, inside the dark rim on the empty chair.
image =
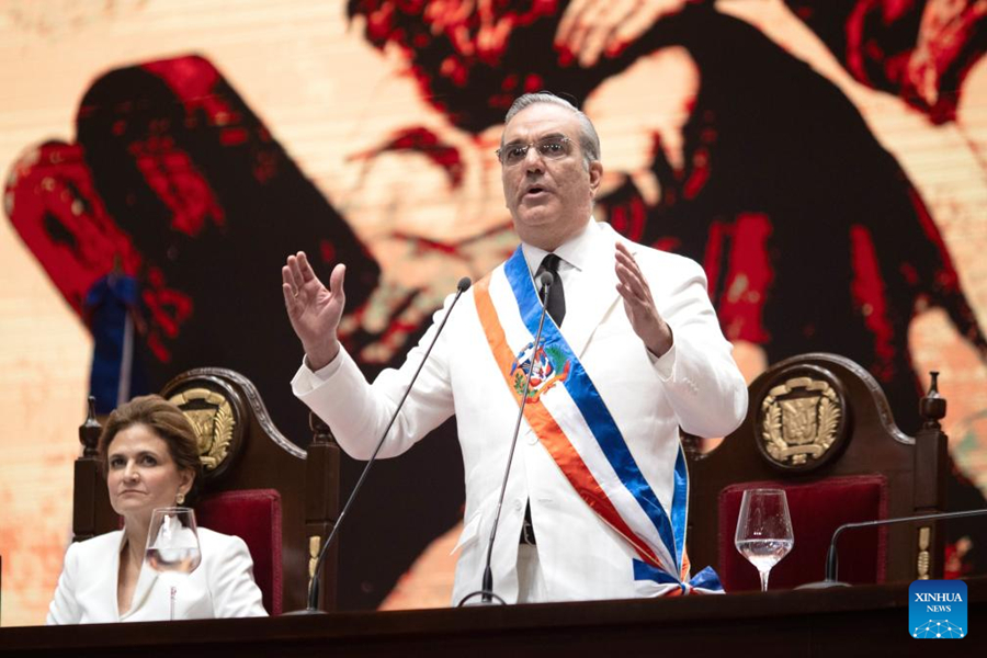
<path id="1" fill-rule="evenodd" d="M 771 388 L 761 401 L 761 413 L 768 456 L 781 466 L 805 467 L 832 447 L 843 409 L 829 383 L 803 376 Z"/>

